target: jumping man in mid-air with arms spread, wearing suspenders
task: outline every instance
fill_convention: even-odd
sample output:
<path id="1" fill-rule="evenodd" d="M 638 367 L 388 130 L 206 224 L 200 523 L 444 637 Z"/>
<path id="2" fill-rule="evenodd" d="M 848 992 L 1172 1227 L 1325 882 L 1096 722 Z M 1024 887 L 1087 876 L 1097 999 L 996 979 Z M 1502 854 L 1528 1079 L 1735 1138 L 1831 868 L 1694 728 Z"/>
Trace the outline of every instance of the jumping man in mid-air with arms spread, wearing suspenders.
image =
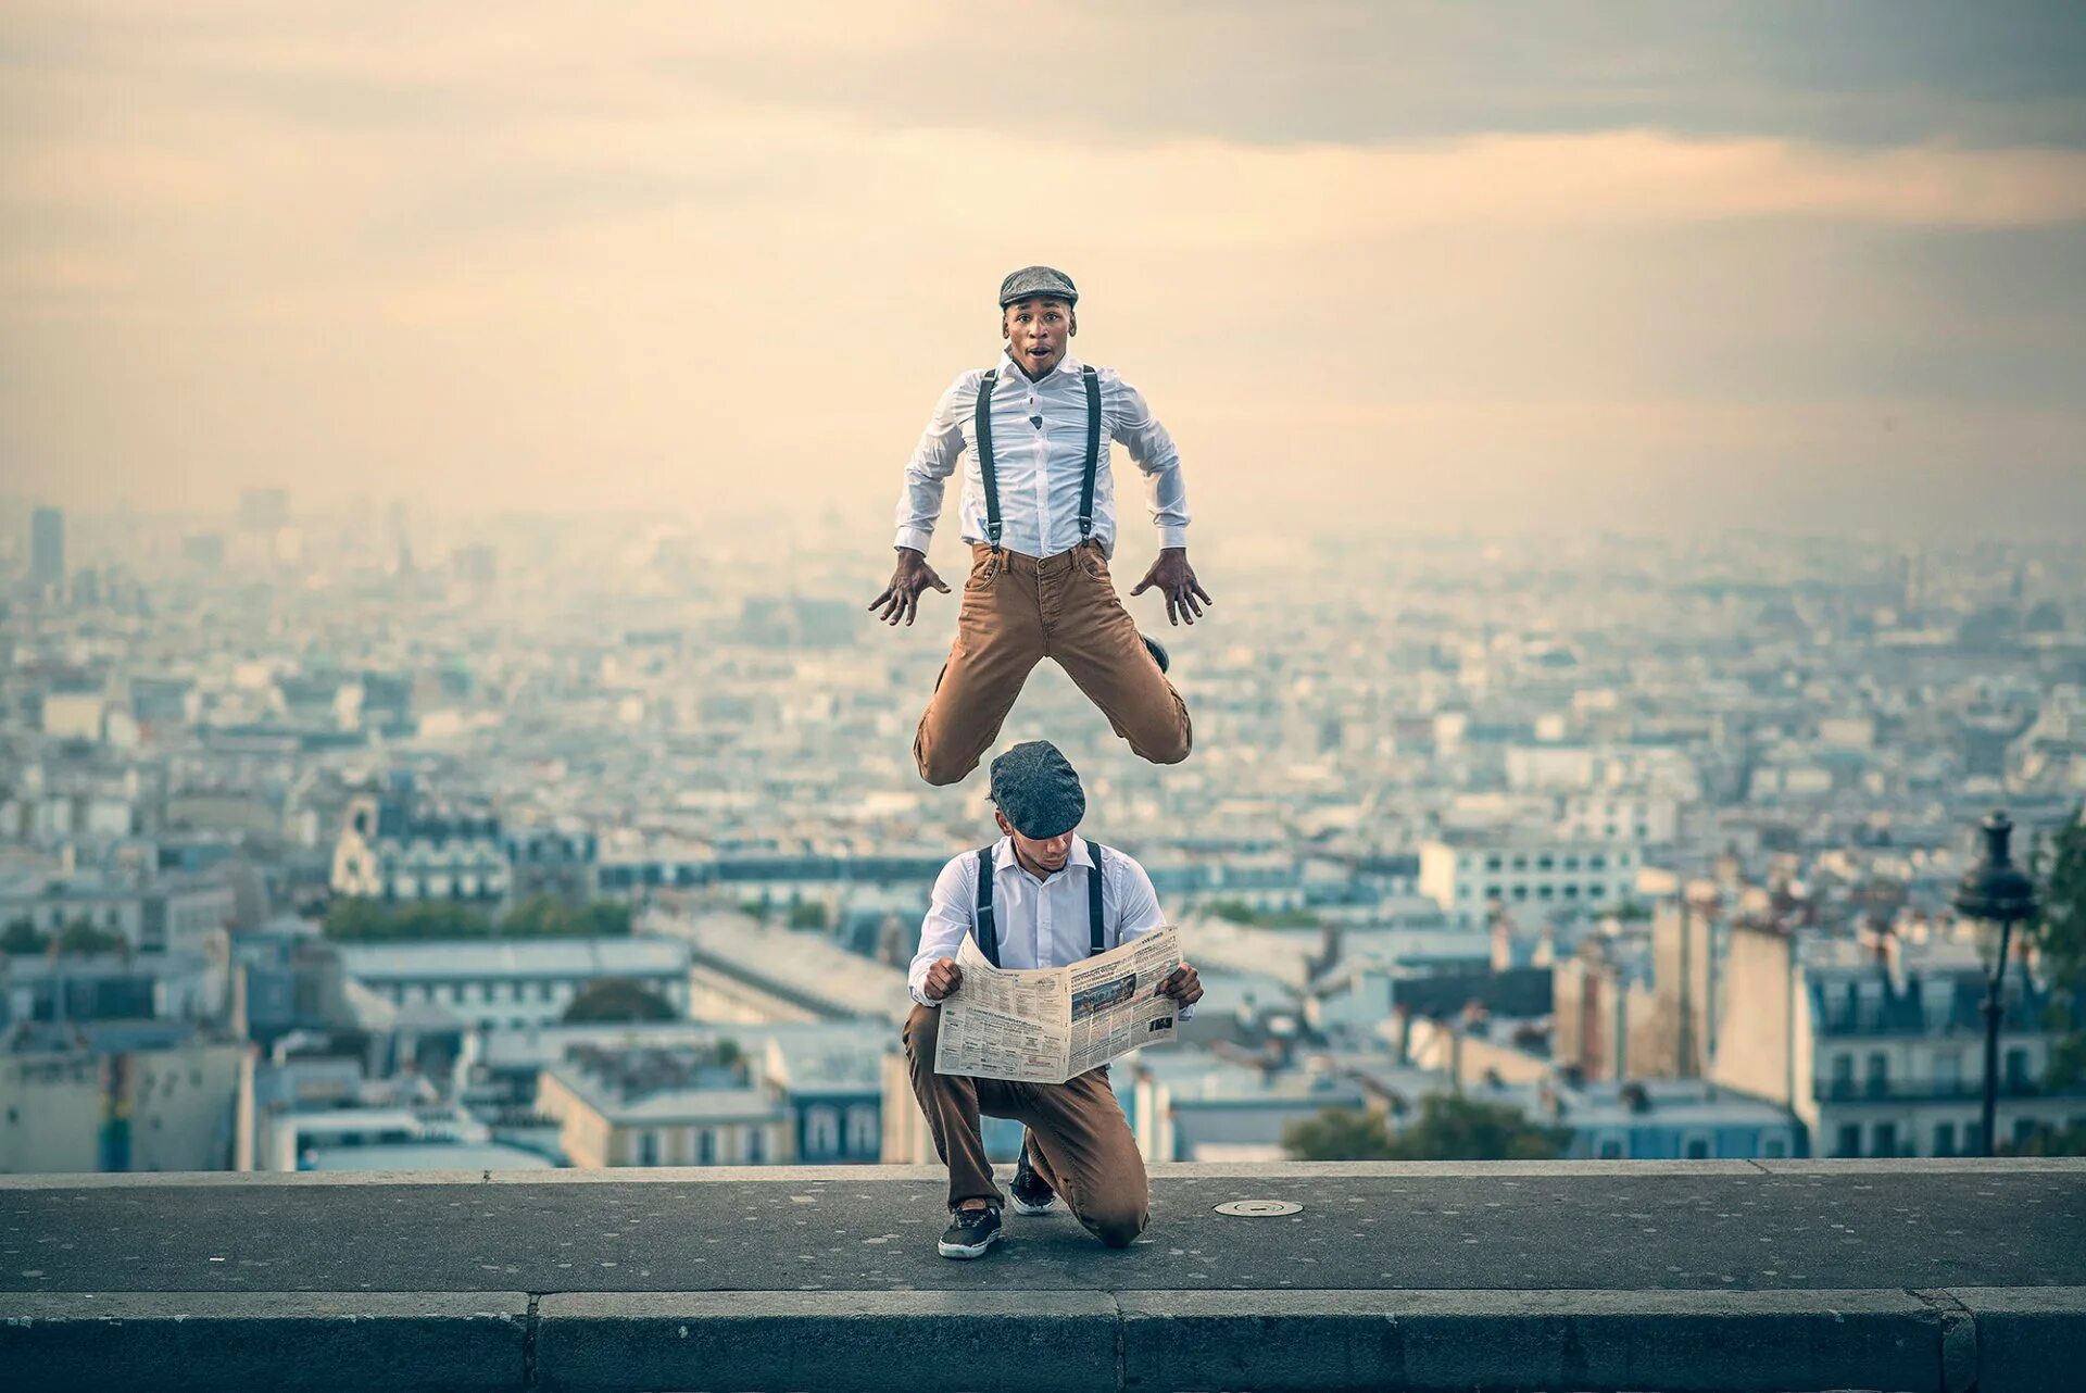
<path id="1" fill-rule="evenodd" d="M 1145 398 L 1110 367 L 1070 355 L 1078 290 L 1064 271 L 1024 267 L 999 284 L 1005 350 L 962 373 L 926 423 L 897 509 L 897 569 L 870 609 L 914 621 L 922 590 L 949 592 L 926 563 L 943 482 L 968 459 L 960 511 L 970 542 L 955 642 L 914 736 L 930 784 L 953 784 L 993 747 L 1028 671 L 1056 659 L 1131 751 L 1187 759 L 1187 703 L 1166 680 L 1166 651 L 1141 638 L 1108 573 L 1116 548 L 1110 442 L 1151 480 L 1160 555 L 1131 594 L 1158 590 L 1172 624 L 1202 617 L 1210 594 L 1187 561 L 1181 459 Z"/>

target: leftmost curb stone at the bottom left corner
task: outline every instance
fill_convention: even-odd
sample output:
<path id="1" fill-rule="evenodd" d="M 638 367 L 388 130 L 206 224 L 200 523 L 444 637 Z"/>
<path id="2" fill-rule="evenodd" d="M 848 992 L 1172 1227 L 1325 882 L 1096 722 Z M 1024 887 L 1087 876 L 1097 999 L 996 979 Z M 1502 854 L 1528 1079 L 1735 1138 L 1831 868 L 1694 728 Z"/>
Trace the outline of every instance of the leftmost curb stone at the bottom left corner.
<path id="1" fill-rule="evenodd" d="M 8 1393 L 519 1389 L 522 1293 L 0 1293 Z"/>

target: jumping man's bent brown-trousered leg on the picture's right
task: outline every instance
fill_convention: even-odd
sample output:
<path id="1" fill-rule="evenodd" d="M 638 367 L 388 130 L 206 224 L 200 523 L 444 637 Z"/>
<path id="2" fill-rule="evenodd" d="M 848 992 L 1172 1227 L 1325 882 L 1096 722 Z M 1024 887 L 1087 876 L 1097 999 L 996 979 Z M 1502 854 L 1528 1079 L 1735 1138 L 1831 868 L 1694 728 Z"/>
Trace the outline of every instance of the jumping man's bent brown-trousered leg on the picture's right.
<path id="1" fill-rule="evenodd" d="M 1116 596 L 1101 548 L 1081 546 L 1068 561 L 1060 613 L 1049 626 L 1049 655 L 1108 715 L 1135 755 L 1151 763 L 1181 763 L 1193 744 L 1187 703 L 1137 636 L 1137 621 Z"/>

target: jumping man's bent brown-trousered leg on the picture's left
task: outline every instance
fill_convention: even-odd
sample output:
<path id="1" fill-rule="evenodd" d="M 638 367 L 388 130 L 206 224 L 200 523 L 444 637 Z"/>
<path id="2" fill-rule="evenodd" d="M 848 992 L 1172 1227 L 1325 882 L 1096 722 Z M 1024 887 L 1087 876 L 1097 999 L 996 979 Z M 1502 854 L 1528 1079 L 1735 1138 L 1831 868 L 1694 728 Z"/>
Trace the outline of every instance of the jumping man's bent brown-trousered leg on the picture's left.
<path id="1" fill-rule="evenodd" d="M 1035 559 L 1012 551 L 995 559 L 991 546 L 972 546 L 949 665 L 914 734 L 920 778 L 953 784 L 976 769 L 1041 657 Z"/>

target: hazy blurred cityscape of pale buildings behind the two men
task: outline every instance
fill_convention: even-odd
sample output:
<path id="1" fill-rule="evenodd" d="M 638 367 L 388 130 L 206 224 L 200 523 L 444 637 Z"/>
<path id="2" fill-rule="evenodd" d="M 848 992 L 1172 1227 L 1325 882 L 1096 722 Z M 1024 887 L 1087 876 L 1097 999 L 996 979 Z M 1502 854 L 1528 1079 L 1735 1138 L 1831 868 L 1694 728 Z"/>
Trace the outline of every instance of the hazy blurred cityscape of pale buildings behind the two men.
<path id="1" fill-rule="evenodd" d="M 983 774 L 912 769 L 955 596 L 876 626 L 884 536 L 4 505 L 0 1172 L 932 1162 L 905 963 L 995 830 Z M 1003 732 L 1066 749 L 1202 970 L 1114 1072 L 1147 1157 L 1454 1095 L 1569 1157 L 1982 1149 L 1950 893 L 1992 807 L 2026 857 L 2086 799 L 2086 553 L 1193 555 L 1185 765 L 1053 667 Z M 2086 1124 L 2019 961 L 2007 1145 Z"/>

